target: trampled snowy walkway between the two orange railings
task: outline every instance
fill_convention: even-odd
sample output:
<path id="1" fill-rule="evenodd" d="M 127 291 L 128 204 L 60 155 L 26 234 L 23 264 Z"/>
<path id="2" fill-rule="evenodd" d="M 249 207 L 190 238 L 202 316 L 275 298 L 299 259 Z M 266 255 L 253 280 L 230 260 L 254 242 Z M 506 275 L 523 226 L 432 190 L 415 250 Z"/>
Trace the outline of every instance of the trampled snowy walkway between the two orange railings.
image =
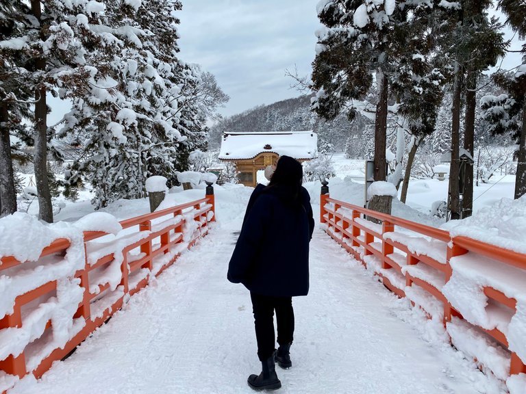
<path id="1" fill-rule="evenodd" d="M 260 363 L 249 293 L 226 279 L 242 217 L 232 212 L 75 354 L 10 394 L 253 393 L 246 380 Z M 433 333 L 425 319 L 319 229 L 310 265 L 310 294 L 294 299 L 293 367 L 277 369 L 279 393 L 486 393 L 472 363 L 423 339 Z"/>

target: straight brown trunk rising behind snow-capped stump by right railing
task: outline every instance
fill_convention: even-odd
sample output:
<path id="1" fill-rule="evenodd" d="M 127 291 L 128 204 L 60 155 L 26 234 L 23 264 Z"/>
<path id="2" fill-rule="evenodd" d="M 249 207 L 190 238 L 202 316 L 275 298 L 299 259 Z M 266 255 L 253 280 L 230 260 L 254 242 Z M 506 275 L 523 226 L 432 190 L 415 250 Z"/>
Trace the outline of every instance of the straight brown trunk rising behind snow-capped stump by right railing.
<path id="1" fill-rule="evenodd" d="M 386 148 L 387 148 L 387 99 L 388 86 L 387 75 L 379 67 L 376 73 L 376 81 L 378 84 L 379 97 L 376 105 L 375 117 L 375 170 L 373 177 L 375 181 L 385 181 L 387 178 L 386 172 Z"/>

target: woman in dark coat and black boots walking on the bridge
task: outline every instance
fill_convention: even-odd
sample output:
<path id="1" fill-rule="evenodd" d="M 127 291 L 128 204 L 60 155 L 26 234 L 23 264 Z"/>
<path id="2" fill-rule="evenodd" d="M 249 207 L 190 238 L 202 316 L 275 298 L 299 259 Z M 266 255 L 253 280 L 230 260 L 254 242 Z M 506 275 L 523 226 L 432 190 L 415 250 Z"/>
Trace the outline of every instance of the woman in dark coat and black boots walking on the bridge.
<path id="1" fill-rule="evenodd" d="M 268 186 L 260 189 L 230 259 L 228 280 L 249 289 L 254 314 L 260 375 L 249 376 L 255 390 L 279 389 L 275 361 L 292 366 L 294 334 L 292 297 L 309 291 L 309 241 L 314 231 L 310 196 L 301 186 L 303 168 L 292 157 L 281 156 Z M 277 319 L 275 352 L 274 311 Z"/>

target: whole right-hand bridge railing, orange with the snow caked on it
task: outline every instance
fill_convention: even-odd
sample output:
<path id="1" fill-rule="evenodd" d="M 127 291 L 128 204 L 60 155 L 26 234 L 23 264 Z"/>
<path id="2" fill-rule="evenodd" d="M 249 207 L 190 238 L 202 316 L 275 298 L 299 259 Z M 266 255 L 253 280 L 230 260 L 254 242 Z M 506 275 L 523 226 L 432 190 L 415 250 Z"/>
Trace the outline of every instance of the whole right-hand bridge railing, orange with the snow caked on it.
<path id="1" fill-rule="evenodd" d="M 483 371 L 505 381 L 510 393 L 526 392 L 526 247 L 496 246 L 334 200 L 327 185 L 320 216 L 328 235 L 388 289 L 442 321 L 451 343 Z"/>

